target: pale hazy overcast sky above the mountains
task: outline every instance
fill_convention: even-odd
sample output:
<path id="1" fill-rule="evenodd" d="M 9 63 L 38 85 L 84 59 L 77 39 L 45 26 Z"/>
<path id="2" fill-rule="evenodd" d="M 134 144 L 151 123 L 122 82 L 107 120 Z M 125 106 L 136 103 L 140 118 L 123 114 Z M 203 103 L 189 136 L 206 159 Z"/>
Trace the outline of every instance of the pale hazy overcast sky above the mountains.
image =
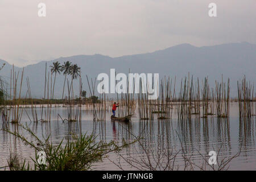
<path id="1" fill-rule="evenodd" d="M 38 4 L 46 3 L 39 18 Z M 217 4 L 217 17 L 208 5 Z M 256 0 L 0 0 L 0 59 L 152 52 L 190 43 L 256 43 Z"/>

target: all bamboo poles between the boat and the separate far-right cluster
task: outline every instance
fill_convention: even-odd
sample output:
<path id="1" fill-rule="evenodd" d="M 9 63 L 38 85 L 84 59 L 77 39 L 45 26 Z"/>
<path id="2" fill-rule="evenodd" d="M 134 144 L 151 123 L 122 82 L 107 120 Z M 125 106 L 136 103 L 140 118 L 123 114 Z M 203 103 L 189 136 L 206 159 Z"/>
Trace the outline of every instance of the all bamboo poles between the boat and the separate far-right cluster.
<path id="1" fill-rule="evenodd" d="M 215 88 L 209 86 L 208 77 L 205 77 L 200 87 L 199 78 L 193 80 L 185 77 L 181 79 L 180 89 L 176 94 L 176 77 L 172 87 L 172 79 L 164 77 L 160 80 L 159 97 L 157 100 L 148 100 L 148 94 L 138 94 L 138 113 L 140 119 L 171 119 L 173 110 L 179 119 L 195 117 L 207 118 L 208 115 L 229 117 L 230 80 L 228 82 L 215 81 Z M 173 89 L 172 89 L 173 88 Z M 202 115 L 201 115 L 202 113 Z"/>

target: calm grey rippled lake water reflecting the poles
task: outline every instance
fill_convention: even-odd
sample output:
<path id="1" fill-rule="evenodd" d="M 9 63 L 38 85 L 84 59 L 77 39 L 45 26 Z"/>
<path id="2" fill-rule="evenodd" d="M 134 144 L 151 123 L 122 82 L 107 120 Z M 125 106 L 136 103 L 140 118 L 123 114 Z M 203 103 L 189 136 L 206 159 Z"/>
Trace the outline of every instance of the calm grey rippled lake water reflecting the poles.
<path id="1" fill-rule="evenodd" d="M 71 138 L 72 134 L 79 134 L 79 126 L 76 123 L 57 122 L 57 114 L 62 118 L 67 118 L 67 107 L 53 107 L 52 119 L 50 127 L 47 123 L 30 122 L 27 114 L 23 113 L 22 123 L 28 126 L 37 135 L 46 136 L 51 133 L 53 143 L 58 143 L 63 137 Z M 26 109 L 28 114 L 31 114 L 31 109 Z M 38 108 L 38 113 L 41 109 Z M 106 142 L 115 140 L 122 144 L 122 139 L 132 140 L 131 135 L 142 134 L 142 142 L 146 146 L 158 148 L 158 150 L 174 149 L 180 150 L 181 143 L 187 155 L 192 155 L 191 160 L 200 164 L 203 159 L 199 152 L 203 155 L 208 155 L 208 152 L 214 149 L 221 148 L 221 156 L 229 157 L 235 155 L 241 147 L 241 154 L 238 158 L 233 159 L 230 163 L 230 168 L 233 170 L 256 170 L 256 122 L 255 117 L 247 121 L 240 121 L 238 115 L 238 106 L 235 102 L 230 103 L 230 118 L 209 117 L 208 119 L 184 119 L 179 121 L 176 115 L 172 119 L 154 121 L 139 121 L 138 118 L 132 118 L 129 124 L 120 122 L 110 122 L 111 113 L 107 113 L 105 122 L 93 122 L 92 113 L 82 111 L 82 133 L 97 134 L 98 140 Z M 155 117 L 156 118 L 156 117 Z M 10 125 L 13 130 L 12 125 Z M 23 133 L 28 140 L 31 136 L 24 131 Z M 178 137 L 179 136 L 179 137 Z M 180 140 L 179 140 L 180 138 Z M 181 141 L 181 142 L 180 142 Z M 136 149 L 135 149 L 136 148 Z M 129 155 L 144 155 L 143 150 L 138 144 L 134 147 L 127 147 L 122 151 L 122 154 Z M 34 157 L 34 150 L 15 139 L 12 135 L 5 131 L 0 131 L 0 167 L 6 166 L 10 154 L 10 150 L 18 152 L 23 158 Z M 199 151 L 199 152 L 198 152 Z M 114 153 L 109 154 L 109 158 L 118 161 L 118 156 Z M 183 158 L 177 156 L 176 162 L 183 164 Z M 121 162 L 124 169 L 135 169 L 129 164 Z M 103 163 L 95 164 L 93 169 L 97 170 L 114 170 L 119 169 L 110 160 L 105 159 Z"/>

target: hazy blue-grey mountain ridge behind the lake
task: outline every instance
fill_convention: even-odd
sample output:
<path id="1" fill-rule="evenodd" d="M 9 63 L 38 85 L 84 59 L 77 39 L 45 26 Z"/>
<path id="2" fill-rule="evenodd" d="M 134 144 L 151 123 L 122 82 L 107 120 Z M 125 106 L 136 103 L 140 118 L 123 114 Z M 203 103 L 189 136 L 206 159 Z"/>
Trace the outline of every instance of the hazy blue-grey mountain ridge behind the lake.
<path id="1" fill-rule="evenodd" d="M 236 96 L 237 93 L 237 80 L 242 78 L 243 75 L 246 75 L 247 80 L 251 82 L 256 81 L 256 44 L 242 42 L 204 47 L 180 44 L 137 55 L 121 57 L 99 54 L 75 55 L 27 65 L 24 67 L 24 80 L 26 80 L 26 77 L 30 78 L 31 92 L 34 97 L 43 97 L 45 64 L 47 63 L 47 71 L 49 71 L 49 65 L 54 61 L 59 61 L 61 64 L 64 61 L 78 64 L 81 67 L 82 83 L 85 90 L 88 90 L 86 75 L 94 79 L 99 73 L 109 74 L 110 68 L 115 68 L 117 73 L 128 73 L 130 68 L 131 73 L 159 73 L 160 78 L 170 76 L 173 79 L 176 76 L 176 81 L 180 81 L 185 76 L 188 77 L 188 73 L 190 76 L 193 75 L 194 78 L 199 77 L 200 80 L 208 76 L 210 86 L 214 86 L 214 80 L 221 81 L 223 73 L 224 81 L 228 77 L 231 80 L 233 96 Z M 6 65 L 0 71 L 0 76 L 6 82 L 9 82 L 12 65 L 7 61 L 0 60 L 1 65 L 2 63 L 6 63 Z M 22 68 L 15 67 L 15 70 L 21 71 Z M 63 82 L 64 76 L 57 75 L 55 85 L 55 96 L 57 98 L 61 97 Z M 65 87 L 67 88 L 67 85 Z M 27 92 L 26 82 L 23 83 L 22 90 L 23 94 Z M 89 91 L 87 93 L 89 94 Z"/>

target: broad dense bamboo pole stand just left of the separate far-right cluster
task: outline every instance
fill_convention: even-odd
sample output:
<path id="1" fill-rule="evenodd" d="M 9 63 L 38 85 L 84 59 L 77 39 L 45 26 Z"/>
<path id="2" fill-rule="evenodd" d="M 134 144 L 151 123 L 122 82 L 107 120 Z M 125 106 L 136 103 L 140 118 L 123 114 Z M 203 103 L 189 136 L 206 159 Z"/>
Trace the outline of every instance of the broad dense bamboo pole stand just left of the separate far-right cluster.
<path id="1" fill-rule="evenodd" d="M 194 85 L 193 76 L 191 81 L 189 77 L 188 79 L 185 77 L 184 85 L 181 81 L 177 99 L 179 103 L 176 104 L 178 117 L 190 118 L 192 114 L 203 118 L 214 114 L 217 117 L 229 117 L 229 78 L 227 84 L 223 82 L 223 78 L 221 83 L 215 82 L 215 88 L 210 89 L 208 77 L 205 77 L 200 90 L 199 78 L 197 78 L 197 82 Z M 200 113 L 203 113 L 203 115 Z"/>

